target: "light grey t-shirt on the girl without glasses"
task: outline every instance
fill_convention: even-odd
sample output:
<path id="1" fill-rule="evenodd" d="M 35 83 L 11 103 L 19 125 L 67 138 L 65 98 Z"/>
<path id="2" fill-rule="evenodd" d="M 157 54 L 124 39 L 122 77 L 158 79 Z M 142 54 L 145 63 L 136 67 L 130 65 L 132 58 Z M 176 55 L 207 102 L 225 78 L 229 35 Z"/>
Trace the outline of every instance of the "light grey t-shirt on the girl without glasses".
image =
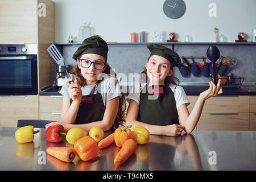
<path id="1" fill-rule="evenodd" d="M 147 83 L 142 84 L 142 89 L 146 86 Z M 141 96 L 139 85 L 135 86 L 131 89 L 129 96 L 127 97 L 127 102 L 130 103 L 130 100 L 134 100 L 139 105 L 139 97 Z M 176 108 L 180 105 L 186 104 L 187 106 L 190 104 L 187 95 L 185 94 L 184 89 L 179 85 L 170 84 L 169 85 L 172 92 L 174 92 L 174 98 L 176 102 Z"/>

